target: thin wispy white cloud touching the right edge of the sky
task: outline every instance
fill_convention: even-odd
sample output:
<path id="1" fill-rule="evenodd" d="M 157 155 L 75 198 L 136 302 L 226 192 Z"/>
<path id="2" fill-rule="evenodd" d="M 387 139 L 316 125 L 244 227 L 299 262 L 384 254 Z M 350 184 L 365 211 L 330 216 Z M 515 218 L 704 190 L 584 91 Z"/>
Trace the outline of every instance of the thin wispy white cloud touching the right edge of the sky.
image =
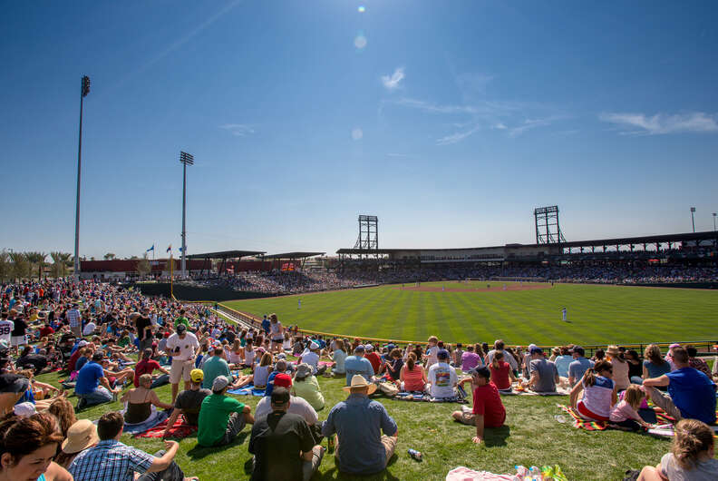
<path id="1" fill-rule="evenodd" d="M 716 115 L 703 112 L 667 115 L 656 113 L 601 113 L 601 122 L 613 123 L 623 135 L 662 135 L 666 133 L 712 133 L 718 132 Z"/>

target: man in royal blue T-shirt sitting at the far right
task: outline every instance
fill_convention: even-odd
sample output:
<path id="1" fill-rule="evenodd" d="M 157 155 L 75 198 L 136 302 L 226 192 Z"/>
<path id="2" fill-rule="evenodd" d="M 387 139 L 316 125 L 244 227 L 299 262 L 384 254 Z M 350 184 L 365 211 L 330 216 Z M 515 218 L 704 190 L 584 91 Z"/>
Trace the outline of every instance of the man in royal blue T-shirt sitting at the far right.
<path id="1" fill-rule="evenodd" d="M 660 378 L 645 379 L 645 394 L 676 420 L 686 417 L 715 424 L 715 383 L 688 365 L 684 348 L 674 348 L 673 362 L 674 371 Z M 656 389 L 659 386 L 666 386 L 668 394 Z"/>

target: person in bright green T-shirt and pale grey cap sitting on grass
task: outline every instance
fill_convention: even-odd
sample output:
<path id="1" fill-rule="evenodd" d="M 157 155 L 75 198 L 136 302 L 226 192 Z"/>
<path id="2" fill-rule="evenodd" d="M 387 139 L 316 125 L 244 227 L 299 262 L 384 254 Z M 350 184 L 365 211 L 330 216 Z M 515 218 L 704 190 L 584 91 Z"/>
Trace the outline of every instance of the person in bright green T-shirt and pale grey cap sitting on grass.
<path id="1" fill-rule="evenodd" d="M 228 445 L 247 423 L 254 423 L 248 406 L 225 395 L 228 386 L 229 379 L 218 376 L 212 383 L 212 394 L 202 401 L 197 434 L 200 446 Z"/>

